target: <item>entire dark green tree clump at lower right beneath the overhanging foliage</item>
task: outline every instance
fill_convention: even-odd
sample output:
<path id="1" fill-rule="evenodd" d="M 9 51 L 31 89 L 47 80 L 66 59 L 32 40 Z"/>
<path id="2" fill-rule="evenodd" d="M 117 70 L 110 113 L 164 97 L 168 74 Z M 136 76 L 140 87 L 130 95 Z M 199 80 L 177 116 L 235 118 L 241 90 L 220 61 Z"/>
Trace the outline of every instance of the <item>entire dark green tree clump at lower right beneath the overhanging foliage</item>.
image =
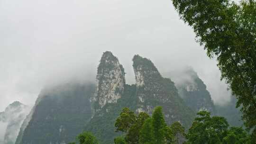
<path id="1" fill-rule="evenodd" d="M 186 144 L 250 144 L 250 136 L 242 127 L 229 127 L 224 117 L 211 117 L 200 111 L 186 135 Z"/>

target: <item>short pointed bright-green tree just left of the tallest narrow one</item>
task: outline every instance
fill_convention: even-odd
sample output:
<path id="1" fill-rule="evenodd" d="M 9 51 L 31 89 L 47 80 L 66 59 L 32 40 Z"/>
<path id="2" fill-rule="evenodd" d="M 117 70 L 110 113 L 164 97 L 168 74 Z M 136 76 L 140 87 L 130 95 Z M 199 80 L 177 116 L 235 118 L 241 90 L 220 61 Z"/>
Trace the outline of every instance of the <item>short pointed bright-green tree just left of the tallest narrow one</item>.
<path id="1" fill-rule="evenodd" d="M 139 144 L 156 144 L 151 118 L 146 119 L 139 134 Z"/>

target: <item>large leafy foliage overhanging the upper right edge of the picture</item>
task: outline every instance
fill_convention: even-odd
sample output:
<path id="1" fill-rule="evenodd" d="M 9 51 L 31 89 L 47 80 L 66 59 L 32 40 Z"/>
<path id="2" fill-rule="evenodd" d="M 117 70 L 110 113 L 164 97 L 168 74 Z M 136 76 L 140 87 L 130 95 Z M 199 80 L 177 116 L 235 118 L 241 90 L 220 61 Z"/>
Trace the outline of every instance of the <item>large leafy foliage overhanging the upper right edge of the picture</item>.
<path id="1" fill-rule="evenodd" d="M 207 55 L 217 57 L 221 79 L 242 106 L 247 128 L 256 127 L 256 1 L 173 0 Z M 256 133 L 256 131 L 254 131 Z M 256 135 L 256 134 L 254 134 Z"/>

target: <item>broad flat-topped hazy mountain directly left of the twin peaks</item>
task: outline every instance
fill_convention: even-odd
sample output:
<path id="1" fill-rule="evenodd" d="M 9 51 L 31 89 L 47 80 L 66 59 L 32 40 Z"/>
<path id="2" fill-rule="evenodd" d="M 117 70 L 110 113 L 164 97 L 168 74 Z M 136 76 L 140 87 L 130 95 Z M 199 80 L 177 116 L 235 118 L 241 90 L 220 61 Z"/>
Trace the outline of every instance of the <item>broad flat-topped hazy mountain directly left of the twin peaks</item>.
<path id="1" fill-rule="evenodd" d="M 91 119 L 93 83 L 67 83 L 41 91 L 16 144 L 67 144 Z"/>

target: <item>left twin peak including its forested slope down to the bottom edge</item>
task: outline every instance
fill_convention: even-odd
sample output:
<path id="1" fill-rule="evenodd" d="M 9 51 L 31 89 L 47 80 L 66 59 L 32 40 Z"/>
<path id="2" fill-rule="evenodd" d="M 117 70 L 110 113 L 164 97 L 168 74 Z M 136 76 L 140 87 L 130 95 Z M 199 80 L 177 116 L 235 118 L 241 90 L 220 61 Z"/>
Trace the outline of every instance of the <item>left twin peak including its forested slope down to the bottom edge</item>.
<path id="1" fill-rule="evenodd" d="M 115 120 L 123 107 L 133 105 L 135 86 L 125 84 L 125 72 L 117 57 L 110 52 L 103 53 L 97 73 L 97 90 L 94 102 L 94 117 L 85 126 L 101 144 L 112 144 L 119 135 L 115 132 Z"/>

